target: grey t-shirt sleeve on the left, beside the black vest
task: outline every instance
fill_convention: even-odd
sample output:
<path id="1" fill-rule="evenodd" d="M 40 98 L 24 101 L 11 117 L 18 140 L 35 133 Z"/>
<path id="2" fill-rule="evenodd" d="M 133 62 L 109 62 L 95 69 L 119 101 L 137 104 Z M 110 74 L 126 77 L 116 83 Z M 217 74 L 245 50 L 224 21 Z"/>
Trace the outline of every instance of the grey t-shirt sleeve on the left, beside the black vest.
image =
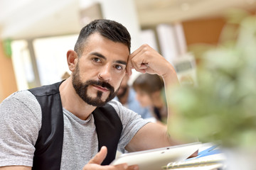
<path id="1" fill-rule="evenodd" d="M 0 166 L 32 166 L 41 128 L 41 107 L 29 91 L 19 91 L 0 104 Z"/>

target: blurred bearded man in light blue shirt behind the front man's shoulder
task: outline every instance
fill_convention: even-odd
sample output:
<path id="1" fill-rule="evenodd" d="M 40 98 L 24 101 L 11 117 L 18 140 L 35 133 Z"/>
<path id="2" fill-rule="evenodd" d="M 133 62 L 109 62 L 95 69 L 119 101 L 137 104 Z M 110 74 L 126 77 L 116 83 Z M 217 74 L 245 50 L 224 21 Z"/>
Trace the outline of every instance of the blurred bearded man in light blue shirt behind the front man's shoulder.
<path id="1" fill-rule="evenodd" d="M 130 110 L 141 115 L 142 118 L 150 120 L 151 122 L 156 122 L 156 119 L 151 115 L 149 109 L 140 106 L 139 101 L 137 101 L 136 99 L 136 92 L 134 91 L 134 89 L 132 89 L 131 86 L 129 86 L 128 81 L 129 75 L 126 74 L 120 84 L 119 91 L 117 92 L 117 97 L 115 97 L 114 99 L 122 103 L 122 106 L 129 108 Z"/>

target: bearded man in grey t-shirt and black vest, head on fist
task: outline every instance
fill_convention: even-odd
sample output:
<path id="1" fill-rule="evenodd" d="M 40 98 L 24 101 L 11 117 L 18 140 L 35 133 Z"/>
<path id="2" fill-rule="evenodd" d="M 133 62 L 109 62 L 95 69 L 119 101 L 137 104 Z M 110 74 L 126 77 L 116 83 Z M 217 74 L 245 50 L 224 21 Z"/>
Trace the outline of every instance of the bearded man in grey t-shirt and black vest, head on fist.
<path id="1" fill-rule="evenodd" d="M 159 74 L 166 87 L 178 83 L 174 67 L 148 45 L 130 53 L 124 26 L 92 21 L 68 50 L 67 62 L 71 75 L 65 81 L 18 91 L 0 104 L 1 170 L 138 169 L 108 164 L 117 149 L 176 144 L 165 126 L 112 100 L 132 69 Z"/>

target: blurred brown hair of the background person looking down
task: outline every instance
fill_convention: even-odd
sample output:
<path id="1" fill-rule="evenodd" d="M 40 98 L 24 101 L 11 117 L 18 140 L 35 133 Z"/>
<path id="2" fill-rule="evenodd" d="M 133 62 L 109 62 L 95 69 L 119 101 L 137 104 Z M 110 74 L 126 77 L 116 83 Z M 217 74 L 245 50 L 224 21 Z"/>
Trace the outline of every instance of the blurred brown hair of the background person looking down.
<path id="1" fill-rule="evenodd" d="M 133 82 L 132 87 L 135 91 L 140 90 L 146 94 L 153 94 L 164 88 L 164 81 L 157 74 L 140 74 Z"/>

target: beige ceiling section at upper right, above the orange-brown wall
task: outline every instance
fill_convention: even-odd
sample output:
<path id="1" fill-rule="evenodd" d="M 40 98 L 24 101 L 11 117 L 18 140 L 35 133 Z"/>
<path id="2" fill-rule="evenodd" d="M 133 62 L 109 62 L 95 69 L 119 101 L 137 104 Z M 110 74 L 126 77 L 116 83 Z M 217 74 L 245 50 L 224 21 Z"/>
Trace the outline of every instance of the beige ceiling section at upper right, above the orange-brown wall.
<path id="1" fill-rule="evenodd" d="M 256 0 L 135 0 L 142 26 L 220 16 L 230 7 L 255 10 Z"/>

